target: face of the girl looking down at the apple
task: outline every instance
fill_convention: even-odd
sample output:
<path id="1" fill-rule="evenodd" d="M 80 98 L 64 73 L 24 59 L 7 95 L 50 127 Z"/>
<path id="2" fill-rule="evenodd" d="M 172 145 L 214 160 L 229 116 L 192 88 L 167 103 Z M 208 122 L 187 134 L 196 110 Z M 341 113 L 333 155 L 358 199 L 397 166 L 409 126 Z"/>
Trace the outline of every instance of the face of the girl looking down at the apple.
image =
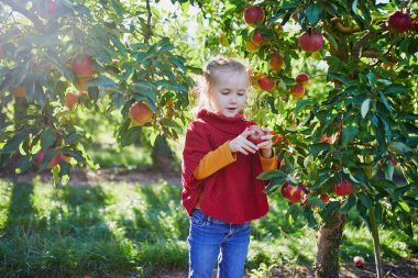
<path id="1" fill-rule="evenodd" d="M 245 71 L 220 71 L 209 90 L 213 112 L 233 118 L 245 105 L 249 76 Z"/>

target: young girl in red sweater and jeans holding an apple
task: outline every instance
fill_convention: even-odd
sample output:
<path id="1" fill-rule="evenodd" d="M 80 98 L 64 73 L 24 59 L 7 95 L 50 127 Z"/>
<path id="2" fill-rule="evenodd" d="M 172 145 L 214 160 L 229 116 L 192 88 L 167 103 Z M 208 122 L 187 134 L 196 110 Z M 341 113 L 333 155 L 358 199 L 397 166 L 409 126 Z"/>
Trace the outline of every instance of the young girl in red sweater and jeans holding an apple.
<path id="1" fill-rule="evenodd" d="M 251 143 L 242 110 L 249 76 L 230 58 L 216 57 L 204 68 L 197 120 L 188 125 L 182 165 L 182 204 L 190 218 L 189 277 L 241 278 L 251 220 L 267 213 L 266 184 L 256 177 L 277 167 L 272 135 Z M 267 129 L 263 129 L 270 132 Z"/>

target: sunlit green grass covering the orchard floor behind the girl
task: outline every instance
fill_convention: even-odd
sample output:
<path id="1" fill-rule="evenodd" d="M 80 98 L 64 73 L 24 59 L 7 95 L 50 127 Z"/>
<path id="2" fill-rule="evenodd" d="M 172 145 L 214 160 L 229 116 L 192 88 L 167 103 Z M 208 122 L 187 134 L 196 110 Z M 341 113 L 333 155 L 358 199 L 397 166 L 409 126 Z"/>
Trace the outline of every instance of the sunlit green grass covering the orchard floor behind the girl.
<path id="1" fill-rule="evenodd" d="M 40 180 L 0 180 L 1 277 L 150 277 L 187 269 L 188 219 L 180 188 L 111 184 L 54 190 Z M 248 271 L 266 265 L 310 264 L 315 231 L 286 225 L 287 203 L 271 198 L 271 212 L 254 221 Z M 416 238 L 381 229 L 385 259 L 416 257 Z M 341 262 L 373 260 L 364 226 L 346 225 Z M 297 259 L 297 262 L 296 262 Z"/>

